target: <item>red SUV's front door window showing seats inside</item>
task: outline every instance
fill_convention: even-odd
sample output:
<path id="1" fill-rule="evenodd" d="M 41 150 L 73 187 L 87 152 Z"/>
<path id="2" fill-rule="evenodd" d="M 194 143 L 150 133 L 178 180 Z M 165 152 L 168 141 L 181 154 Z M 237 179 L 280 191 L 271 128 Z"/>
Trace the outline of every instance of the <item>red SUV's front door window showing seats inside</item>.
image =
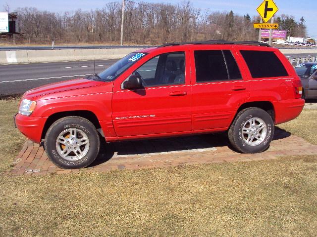
<path id="1" fill-rule="evenodd" d="M 141 76 L 145 87 L 184 84 L 185 83 L 185 53 L 164 53 L 150 59 L 133 72 Z"/>

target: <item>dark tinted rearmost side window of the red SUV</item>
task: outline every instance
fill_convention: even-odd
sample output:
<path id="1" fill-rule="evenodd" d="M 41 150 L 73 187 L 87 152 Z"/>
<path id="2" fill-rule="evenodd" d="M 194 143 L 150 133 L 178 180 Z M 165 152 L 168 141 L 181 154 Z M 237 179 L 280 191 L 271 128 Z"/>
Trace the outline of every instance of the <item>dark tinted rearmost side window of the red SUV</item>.
<path id="1" fill-rule="evenodd" d="M 274 52 L 253 50 L 241 50 L 240 52 L 253 78 L 288 76 L 283 64 Z"/>

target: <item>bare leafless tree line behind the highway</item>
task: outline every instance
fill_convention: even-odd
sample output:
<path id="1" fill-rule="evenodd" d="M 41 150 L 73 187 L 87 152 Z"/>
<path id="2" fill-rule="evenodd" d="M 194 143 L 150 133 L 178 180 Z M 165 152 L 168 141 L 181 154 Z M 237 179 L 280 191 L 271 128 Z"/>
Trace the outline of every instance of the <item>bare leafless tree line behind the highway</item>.
<path id="1" fill-rule="evenodd" d="M 40 11 L 35 7 L 16 9 L 23 40 L 29 43 L 118 43 L 121 32 L 121 2 L 106 3 L 102 9 Z M 259 16 L 241 16 L 233 11 L 219 12 L 180 4 L 144 3 L 126 0 L 124 42 L 161 44 L 195 40 L 258 40 L 253 23 Z M 277 18 L 280 30 L 290 36 L 306 37 L 305 19 L 289 15 Z"/>

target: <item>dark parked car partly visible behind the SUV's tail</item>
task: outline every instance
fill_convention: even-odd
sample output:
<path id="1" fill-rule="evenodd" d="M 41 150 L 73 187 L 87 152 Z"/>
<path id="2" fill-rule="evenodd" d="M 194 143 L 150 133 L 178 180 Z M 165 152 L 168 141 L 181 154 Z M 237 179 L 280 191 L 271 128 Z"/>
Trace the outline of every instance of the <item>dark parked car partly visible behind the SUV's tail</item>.
<path id="1" fill-rule="evenodd" d="M 317 63 L 301 63 L 295 67 L 303 84 L 303 99 L 317 99 Z"/>

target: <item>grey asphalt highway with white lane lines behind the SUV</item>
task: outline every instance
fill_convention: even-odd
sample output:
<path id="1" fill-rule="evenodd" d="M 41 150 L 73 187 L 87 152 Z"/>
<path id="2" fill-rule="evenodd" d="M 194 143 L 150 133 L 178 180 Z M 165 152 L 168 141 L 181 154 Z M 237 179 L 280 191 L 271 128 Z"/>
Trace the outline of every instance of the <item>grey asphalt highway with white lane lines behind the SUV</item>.
<path id="1" fill-rule="evenodd" d="M 312 54 L 286 54 L 287 57 L 309 57 Z M 0 96 L 22 94 L 41 85 L 82 78 L 98 73 L 117 60 L 0 65 Z"/>

